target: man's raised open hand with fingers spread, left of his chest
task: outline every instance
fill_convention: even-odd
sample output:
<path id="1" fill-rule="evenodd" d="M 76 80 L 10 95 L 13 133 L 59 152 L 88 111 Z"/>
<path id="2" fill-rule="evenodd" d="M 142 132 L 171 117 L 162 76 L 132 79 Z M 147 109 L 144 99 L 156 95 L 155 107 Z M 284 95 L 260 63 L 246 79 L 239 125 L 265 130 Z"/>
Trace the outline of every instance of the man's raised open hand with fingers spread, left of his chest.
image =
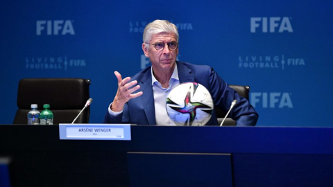
<path id="1" fill-rule="evenodd" d="M 133 87 L 135 84 L 137 84 L 137 80 L 128 82 L 130 81 L 130 77 L 122 79 L 121 74 L 118 71 L 114 71 L 114 75 L 116 75 L 118 80 L 118 90 L 116 96 L 114 97 L 111 110 L 113 112 L 119 112 L 123 110 L 123 105 L 125 105 L 128 100 L 141 96 L 143 92 L 139 91 L 135 94 L 132 94 L 134 91 L 137 91 L 137 89 L 140 88 L 139 85 Z"/>

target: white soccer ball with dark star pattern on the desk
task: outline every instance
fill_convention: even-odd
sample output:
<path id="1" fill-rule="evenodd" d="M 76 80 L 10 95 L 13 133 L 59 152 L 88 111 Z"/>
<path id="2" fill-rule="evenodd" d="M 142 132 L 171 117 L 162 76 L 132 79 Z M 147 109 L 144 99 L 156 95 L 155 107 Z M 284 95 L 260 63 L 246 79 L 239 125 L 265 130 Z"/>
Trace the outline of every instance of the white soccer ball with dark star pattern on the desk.
<path id="1" fill-rule="evenodd" d="M 170 120 L 181 126 L 205 125 L 214 109 L 210 92 L 196 82 L 185 82 L 173 88 L 166 103 Z"/>

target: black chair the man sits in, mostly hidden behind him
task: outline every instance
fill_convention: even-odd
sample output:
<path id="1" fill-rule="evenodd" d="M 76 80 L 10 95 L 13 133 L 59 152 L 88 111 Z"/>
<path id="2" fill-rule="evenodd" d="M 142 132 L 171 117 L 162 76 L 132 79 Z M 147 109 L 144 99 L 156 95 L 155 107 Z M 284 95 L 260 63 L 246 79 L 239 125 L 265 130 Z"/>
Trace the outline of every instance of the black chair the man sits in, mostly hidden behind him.
<path id="1" fill-rule="evenodd" d="M 246 98 L 247 100 L 249 100 L 249 93 L 250 93 L 249 86 L 241 86 L 241 85 L 229 85 L 229 86 L 232 89 L 234 89 L 235 91 L 237 91 L 239 96 L 242 96 L 242 97 Z M 215 106 L 215 112 L 216 112 L 216 116 L 217 116 L 217 122 L 219 124 L 221 124 L 226 113 L 222 112 L 221 109 L 219 109 L 219 107 L 216 107 L 216 106 Z M 232 118 L 225 118 L 223 126 L 235 126 L 235 125 L 236 125 L 236 122 L 234 120 L 232 120 Z"/>

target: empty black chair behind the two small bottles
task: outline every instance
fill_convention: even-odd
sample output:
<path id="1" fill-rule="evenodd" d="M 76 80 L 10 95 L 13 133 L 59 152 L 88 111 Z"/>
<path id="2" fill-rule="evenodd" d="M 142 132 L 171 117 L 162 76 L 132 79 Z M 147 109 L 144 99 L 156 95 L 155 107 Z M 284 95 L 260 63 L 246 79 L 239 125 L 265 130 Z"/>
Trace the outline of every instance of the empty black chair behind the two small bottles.
<path id="1" fill-rule="evenodd" d="M 50 105 L 53 124 L 71 123 L 89 99 L 89 79 L 82 78 L 28 78 L 19 80 L 17 109 L 13 124 L 26 124 L 31 104 L 41 112 L 44 104 Z M 89 123 L 87 107 L 76 123 Z"/>

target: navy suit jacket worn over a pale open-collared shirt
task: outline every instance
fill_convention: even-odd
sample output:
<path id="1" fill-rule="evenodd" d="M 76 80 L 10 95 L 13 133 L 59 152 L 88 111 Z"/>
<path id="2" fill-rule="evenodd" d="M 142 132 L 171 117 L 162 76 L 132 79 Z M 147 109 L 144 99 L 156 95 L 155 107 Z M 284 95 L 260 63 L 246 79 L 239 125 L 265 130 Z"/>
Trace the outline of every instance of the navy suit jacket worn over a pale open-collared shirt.
<path id="1" fill-rule="evenodd" d="M 198 82 L 203 84 L 210 91 L 214 105 L 219 106 L 225 114 L 230 109 L 232 100 L 237 100 L 237 104 L 234 105 L 229 114 L 229 117 L 236 121 L 236 125 L 254 126 L 257 123 L 258 114 L 253 106 L 250 105 L 246 98 L 239 96 L 234 89 L 230 88 L 212 67 L 178 61 L 176 63 L 180 83 Z M 134 75 L 131 80 L 137 80 L 137 84 L 141 87 L 138 91 L 143 91 L 144 94 L 128 100 L 128 103 L 123 108 L 123 113 L 116 117 L 111 116 L 107 112 L 103 123 L 156 125 L 153 87 L 151 85 L 151 66 Z M 215 112 L 213 112 L 212 118 L 206 125 L 219 125 Z"/>

